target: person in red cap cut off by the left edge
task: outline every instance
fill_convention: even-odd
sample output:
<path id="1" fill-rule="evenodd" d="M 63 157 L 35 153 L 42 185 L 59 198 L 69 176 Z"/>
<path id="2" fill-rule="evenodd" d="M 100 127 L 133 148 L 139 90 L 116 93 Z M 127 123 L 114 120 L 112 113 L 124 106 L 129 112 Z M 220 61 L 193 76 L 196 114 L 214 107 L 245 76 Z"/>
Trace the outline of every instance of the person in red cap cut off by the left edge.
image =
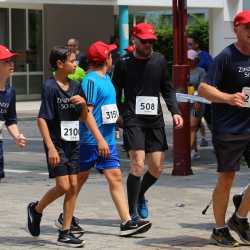
<path id="1" fill-rule="evenodd" d="M 13 87 L 7 85 L 7 81 L 14 71 L 13 57 L 15 53 L 0 45 L 0 182 L 4 178 L 3 161 L 3 125 L 14 138 L 19 147 L 26 145 L 26 138 L 20 133 L 16 116 L 16 93 Z"/>

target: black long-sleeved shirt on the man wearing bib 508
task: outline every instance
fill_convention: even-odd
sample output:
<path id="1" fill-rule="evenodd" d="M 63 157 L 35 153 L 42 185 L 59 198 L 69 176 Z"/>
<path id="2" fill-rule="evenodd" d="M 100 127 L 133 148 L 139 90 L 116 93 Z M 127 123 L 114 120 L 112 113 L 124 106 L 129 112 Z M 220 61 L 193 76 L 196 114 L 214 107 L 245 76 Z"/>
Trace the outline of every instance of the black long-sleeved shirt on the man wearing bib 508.
<path id="1" fill-rule="evenodd" d="M 112 80 L 117 92 L 118 107 L 127 127 L 164 127 L 160 94 L 172 114 L 180 113 L 175 90 L 167 81 L 167 62 L 160 53 L 154 52 L 148 59 L 138 59 L 133 54 L 128 54 L 116 63 Z M 122 104 L 123 90 L 125 102 Z M 136 98 L 140 96 L 158 99 L 157 114 L 135 114 Z M 140 103 L 140 105 L 146 109 L 149 104 Z M 150 108 L 150 105 L 148 107 Z"/>

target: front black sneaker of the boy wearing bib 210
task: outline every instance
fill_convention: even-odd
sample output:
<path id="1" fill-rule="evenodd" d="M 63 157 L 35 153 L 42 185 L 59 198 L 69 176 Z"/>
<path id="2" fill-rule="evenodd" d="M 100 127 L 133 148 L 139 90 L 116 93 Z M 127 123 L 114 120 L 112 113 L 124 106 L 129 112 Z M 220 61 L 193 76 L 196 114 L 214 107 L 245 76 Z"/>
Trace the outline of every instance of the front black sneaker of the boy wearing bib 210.
<path id="1" fill-rule="evenodd" d="M 59 230 L 57 245 L 80 248 L 84 247 L 85 240 L 80 240 L 76 238 L 75 235 L 72 232 L 70 232 L 70 230 L 64 230 L 64 231 Z"/>

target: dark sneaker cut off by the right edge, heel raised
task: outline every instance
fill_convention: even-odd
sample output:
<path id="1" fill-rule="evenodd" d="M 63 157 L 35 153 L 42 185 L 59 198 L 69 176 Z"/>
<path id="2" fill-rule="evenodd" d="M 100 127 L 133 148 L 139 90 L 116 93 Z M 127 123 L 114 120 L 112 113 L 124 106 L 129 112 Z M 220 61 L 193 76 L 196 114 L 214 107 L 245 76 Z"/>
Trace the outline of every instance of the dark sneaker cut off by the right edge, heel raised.
<path id="1" fill-rule="evenodd" d="M 239 235 L 244 243 L 250 244 L 250 226 L 247 218 L 238 218 L 234 213 L 228 221 L 228 226 Z"/>

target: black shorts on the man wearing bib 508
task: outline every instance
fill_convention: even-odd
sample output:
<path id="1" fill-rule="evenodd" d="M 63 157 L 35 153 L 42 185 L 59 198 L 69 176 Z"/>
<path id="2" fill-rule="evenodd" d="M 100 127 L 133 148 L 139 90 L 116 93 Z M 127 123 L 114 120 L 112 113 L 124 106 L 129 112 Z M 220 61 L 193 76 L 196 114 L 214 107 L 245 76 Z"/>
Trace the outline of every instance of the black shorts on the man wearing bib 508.
<path id="1" fill-rule="evenodd" d="M 123 137 L 127 151 L 144 150 L 146 153 L 152 153 L 168 149 L 164 128 L 126 127 Z"/>

